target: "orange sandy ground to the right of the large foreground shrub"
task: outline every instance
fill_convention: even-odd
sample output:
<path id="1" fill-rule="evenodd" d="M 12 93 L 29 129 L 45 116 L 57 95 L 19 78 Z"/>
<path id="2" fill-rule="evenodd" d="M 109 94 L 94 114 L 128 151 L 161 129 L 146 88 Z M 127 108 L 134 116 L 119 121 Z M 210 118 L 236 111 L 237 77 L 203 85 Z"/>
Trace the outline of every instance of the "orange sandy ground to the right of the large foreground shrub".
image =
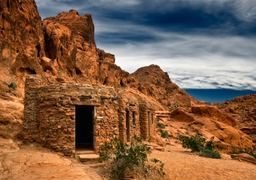
<path id="1" fill-rule="evenodd" d="M 222 159 L 200 157 L 180 144 L 166 146 L 166 152 L 154 150 L 150 157 L 164 162 L 164 171 L 170 179 L 256 179 L 256 165 L 231 160 L 228 154 L 222 154 Z"/>

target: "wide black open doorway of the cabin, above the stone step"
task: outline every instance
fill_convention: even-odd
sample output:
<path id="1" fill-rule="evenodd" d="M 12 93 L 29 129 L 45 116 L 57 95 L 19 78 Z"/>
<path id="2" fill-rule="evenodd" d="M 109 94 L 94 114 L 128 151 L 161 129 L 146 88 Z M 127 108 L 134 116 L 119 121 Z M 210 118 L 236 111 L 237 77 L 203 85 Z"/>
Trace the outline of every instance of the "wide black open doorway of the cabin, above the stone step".
<path id="1" fill-rule="evenodd" d="M 76 105 L 76 150 L 93 149 L 94 106 Z"/>

